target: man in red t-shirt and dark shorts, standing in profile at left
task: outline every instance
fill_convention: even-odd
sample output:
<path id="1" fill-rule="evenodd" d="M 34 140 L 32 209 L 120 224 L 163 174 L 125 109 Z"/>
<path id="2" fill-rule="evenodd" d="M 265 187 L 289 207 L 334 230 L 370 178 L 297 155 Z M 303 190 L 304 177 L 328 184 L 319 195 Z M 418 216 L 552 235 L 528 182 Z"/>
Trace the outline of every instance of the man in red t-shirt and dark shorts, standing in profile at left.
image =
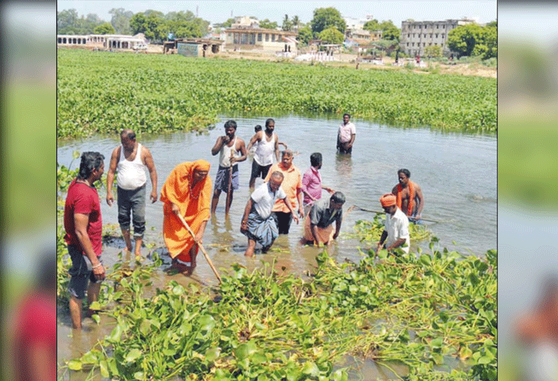
<path id="1" fill-rule="evenodd" d="M 82 154 L 79 174 L 68 187 L 64 207 L 64 240 L 72 258 L 72 268 L 69 271 L 72 278 L 68 286 L 70 315 L 75 329 L 82 328 L 82 299 L 85 297 L 85 290 L 91 306 L 98 299 L 100 282 L 105 278 L 105 268 L 100 261 L 103 222 L 100 218 L 99 196 L 93 186 L 103 176 L 104 159 L 98 152 Z"/>

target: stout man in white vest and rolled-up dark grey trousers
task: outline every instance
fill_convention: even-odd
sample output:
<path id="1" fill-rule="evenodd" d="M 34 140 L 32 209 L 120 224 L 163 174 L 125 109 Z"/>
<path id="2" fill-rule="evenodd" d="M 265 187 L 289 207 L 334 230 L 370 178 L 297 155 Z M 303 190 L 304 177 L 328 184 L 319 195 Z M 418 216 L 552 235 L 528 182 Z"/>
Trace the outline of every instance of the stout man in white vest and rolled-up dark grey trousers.
<path id="1" fill-rule="evenodd" d="M 148 148 L 136 141 L 136 134 L 131 129 L 123 129 L 120 142 L 112 151 L 110 167 L 107 174 L 107 204 L 112 205 L 112 182 L 117 172 L 117 205 L 118 223 L 122 236 L 126 242 L 126 249 L 131 252 L 130 214 L 134 225 L 134 240 L 136 241 L 136 257 L 141 256 L 141 243 L 145 231 L 145 167 L 151 178 L 151 202 L 157 201 L 157 170 Z"/>

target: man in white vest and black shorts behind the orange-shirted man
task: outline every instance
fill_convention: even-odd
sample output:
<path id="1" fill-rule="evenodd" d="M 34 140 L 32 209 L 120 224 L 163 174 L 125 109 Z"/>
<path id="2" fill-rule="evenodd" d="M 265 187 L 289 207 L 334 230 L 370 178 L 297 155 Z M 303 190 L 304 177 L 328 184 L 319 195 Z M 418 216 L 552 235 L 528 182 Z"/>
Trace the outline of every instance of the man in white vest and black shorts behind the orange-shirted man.
<path id="1" fill-rule="evenodd" d="M 254 189 L 256 178 L 260 176 L 265 179 L 271 164 L 273 164 L 273 153 L 279 162 L 279 138 L 275 132 L 275 121 L 271 118 L 266 120 L 266 131 L 257 131 L 250 139 L 246 150 L 256 146 L 254 160 L 252 161 L 252 173 L 250 174 L 250 190 Z"/>

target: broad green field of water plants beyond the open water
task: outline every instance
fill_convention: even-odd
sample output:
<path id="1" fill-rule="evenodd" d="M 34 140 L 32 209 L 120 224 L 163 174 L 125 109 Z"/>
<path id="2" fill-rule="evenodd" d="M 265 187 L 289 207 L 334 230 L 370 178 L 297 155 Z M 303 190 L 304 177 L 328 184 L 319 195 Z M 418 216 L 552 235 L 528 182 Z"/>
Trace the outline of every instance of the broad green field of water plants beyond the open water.
<path id="1" fill-rule="evenodd" d="M 204 131 L 226 111 L 496 131 L 493 78 L 79 49 L 58 49 L 57 65 L 59 138 Z"/>

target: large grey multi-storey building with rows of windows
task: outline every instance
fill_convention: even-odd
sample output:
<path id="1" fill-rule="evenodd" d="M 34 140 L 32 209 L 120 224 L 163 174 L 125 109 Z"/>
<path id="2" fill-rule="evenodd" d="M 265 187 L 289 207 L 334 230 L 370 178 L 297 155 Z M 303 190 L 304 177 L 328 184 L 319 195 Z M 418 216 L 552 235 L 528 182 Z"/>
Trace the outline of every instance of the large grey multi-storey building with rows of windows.
<path id="1" fill-rule="evenodd" d="M 461 20 L 445 21 L 402 21 L 401 38 L 399 46 L 401 51 L 410 56 L 424 56 L 427 46 L 441 46 L 442 54 L 448 56 L 448 33 L 460 25 L 473 23 L 474 20 L 463 18 Z"/>

